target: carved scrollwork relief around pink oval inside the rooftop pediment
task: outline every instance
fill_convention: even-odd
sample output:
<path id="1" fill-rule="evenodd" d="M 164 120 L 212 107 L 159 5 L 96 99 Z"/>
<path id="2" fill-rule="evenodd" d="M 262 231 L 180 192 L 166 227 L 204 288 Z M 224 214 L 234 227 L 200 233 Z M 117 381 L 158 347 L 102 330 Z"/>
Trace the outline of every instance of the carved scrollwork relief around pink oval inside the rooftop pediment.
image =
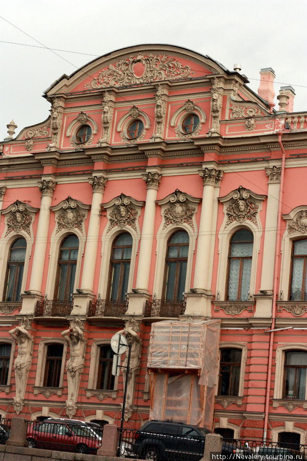
<path id="1" fill-rule="evenodd" d="M 120 59 L 110 64 L 98 73 L 90 82 L 84 85 L 86 90 L 134 85 L 141 82 L 173 80 L 192 77 L 195 72 L 189 66 L 171 56 L 161 54 L 139 54 Z"/>

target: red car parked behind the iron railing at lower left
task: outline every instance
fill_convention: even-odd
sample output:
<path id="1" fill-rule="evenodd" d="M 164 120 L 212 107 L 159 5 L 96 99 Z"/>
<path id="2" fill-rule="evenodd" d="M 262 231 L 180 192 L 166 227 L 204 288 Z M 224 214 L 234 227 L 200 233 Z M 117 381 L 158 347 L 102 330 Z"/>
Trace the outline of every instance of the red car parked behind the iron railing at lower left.
<path id="1" fill-rule="evenodd" d="M 28 423 L 27 442 L 30 448 L 95 454 L 101 437 L 90 426 L 43 421 Z"/>

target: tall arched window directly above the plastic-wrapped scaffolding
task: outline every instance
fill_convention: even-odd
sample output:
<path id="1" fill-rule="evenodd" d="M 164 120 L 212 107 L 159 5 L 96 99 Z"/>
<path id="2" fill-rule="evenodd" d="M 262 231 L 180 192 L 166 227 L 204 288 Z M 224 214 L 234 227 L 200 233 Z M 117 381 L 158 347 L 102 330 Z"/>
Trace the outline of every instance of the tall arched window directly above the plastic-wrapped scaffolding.
<path id="1" fill-rule="evenodd" d="M 165 272 L 163 282 L 163 299 L 181 301 L 185 291 L 189 236 L 179 231 L 170 236 L 167 242 Z"/>

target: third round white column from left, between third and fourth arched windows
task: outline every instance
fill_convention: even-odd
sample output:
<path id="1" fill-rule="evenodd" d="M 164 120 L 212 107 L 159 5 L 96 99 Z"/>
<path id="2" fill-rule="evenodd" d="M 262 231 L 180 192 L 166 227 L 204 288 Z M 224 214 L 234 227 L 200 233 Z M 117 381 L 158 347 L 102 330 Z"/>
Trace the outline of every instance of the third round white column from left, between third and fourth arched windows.
<path id="1" fill-rule="evenodd" d="M 161 174 L 148 172 L 143 176 L 147 184 L 147 195 L 142 227 L 140 244 L 140 256 L 137 274 L 137 289 L 143 292 L 148 291 L 148 281 L 150 273 L 150 262 L 152 253 L 153 229 L 155 227 L 156 200 L 161 180 Z"/>

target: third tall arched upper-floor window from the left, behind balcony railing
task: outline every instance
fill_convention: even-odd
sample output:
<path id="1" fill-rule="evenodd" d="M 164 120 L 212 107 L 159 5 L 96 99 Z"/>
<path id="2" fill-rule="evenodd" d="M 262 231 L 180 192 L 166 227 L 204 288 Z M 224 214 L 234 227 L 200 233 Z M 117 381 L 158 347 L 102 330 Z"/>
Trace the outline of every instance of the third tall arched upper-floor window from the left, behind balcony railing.
<path id="1" fill-rule="evenodd" d="M 132 237 L 130 234 L 120 234 L 113 242 L 107 300 L 111 302 L 124 301 L 128 289 Z"/>

